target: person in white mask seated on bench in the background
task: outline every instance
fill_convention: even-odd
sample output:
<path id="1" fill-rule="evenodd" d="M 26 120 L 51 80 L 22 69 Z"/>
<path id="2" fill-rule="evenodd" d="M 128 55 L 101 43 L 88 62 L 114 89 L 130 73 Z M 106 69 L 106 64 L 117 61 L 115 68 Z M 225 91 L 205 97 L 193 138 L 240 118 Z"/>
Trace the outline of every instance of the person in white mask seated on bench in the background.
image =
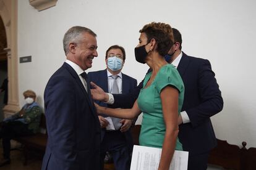
<path id="1" fill-rule="evenodd" d="M 22 109 L 1 122 L 0 139 L 2 139 L 4 160 L 1 161 L 0 167 L 11 163 L 11 139 L 21 136 L 30 136 L 39 131 L 42 110 L 38 103 L 35 102 L 36 94 L 28 90 L 23 92 L 23 95 L 26 104 Z"/>

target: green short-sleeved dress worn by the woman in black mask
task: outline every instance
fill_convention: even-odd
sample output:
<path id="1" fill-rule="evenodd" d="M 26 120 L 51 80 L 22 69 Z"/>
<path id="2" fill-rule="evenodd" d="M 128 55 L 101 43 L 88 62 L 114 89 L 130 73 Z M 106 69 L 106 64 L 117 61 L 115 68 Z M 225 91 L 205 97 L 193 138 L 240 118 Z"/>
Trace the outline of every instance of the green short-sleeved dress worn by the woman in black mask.
<path id="1" fill-rule="evenodd" d="M 179 90 L 178 113 L 180 114 L 184 98 L 184 84 L 176 68 L 171 64 L 166 64 L 160 68 L 150 86 L 144 88 L 151 74 L 152 72 L 145 76 L 143 88 L 137 99 L 139 108 L 143 112 L 139 142 L 142 146 L 162 148 L 166 128 L 160 98 L 161 90 L 166 86 L 174 86 Z M 178 138 L 175 150 L 182 150 L 182 144 Z"/>

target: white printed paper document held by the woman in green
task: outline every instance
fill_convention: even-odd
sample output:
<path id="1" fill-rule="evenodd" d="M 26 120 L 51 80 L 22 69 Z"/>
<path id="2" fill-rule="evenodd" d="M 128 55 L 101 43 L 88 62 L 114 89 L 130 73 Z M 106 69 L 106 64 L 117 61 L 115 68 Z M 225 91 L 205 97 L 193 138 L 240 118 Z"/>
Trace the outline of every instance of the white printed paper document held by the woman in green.
<path id="1" fill-rule="evenodd" d="M 130 170 L 157 170 L 161 158 L 161 148 L 134 145 Z M 169 170 L 187 170 L 189 152 L 175 150 Z"/>

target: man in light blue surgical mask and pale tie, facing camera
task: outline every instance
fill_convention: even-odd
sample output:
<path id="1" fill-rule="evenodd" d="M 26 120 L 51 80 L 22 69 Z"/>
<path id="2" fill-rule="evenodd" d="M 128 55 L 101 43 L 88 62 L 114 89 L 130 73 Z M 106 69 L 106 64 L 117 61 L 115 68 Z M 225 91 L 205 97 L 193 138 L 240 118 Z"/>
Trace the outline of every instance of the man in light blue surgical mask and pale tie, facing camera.
<path id="1" fill-rule="evenodd" d="M 137 86 L 137 80 L 121 73 L 125 60 L 126 52 L 123 47 L 117 45 L 109 47 L 105 57 L 107 68 L 88 73 L 88 79 L 106 92 L 113 94 L 132 92 Z M 96 101 L 96 103 L 108 107 L 104 102 Z M 101 124 L 101 169 L 104 166 L 106 152 L 109 152 L 113 156 L 116 170 L 129 170 L 133 146 L 130 133 L 132 120 L 109 118 L 106 115 L 99 115 L 98 118 Z M 114 126 L 111 128 L 112 123 Z"/>

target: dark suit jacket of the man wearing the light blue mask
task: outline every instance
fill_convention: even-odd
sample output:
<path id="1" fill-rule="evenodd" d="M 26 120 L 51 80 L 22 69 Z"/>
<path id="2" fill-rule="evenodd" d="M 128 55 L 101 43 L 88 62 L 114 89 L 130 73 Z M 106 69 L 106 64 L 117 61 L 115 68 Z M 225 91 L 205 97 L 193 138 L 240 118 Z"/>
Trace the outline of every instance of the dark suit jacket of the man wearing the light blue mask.
<path id="1" fill-rule="evenodd" d="M 101 89 L 103 89 L 105 92 L 108 92 L 108 74 L 106 69 L 88 73 L 88 80 L 100 86 Z M 137 80 L 122 73 L 122 94 L 128 94 L 132 92 L 135 87 L 137 87 Z M 106 105 L 106 103 L 104 102 L 99 102 L 99 101 L 95 101 L 95 102 L 104 107 L 112 107 L 111 105 Z M 130 129 L 129 131 L 124 132 L 124 134 L 126 136 L 127 145 L 132 145 L 133 141 L 132 141 L 132 135 L 130 134 Z M 105 136 L 105 128 L 102 129 L 101 131 L 101 140 L 103 139 L 104 136 Z"/>

